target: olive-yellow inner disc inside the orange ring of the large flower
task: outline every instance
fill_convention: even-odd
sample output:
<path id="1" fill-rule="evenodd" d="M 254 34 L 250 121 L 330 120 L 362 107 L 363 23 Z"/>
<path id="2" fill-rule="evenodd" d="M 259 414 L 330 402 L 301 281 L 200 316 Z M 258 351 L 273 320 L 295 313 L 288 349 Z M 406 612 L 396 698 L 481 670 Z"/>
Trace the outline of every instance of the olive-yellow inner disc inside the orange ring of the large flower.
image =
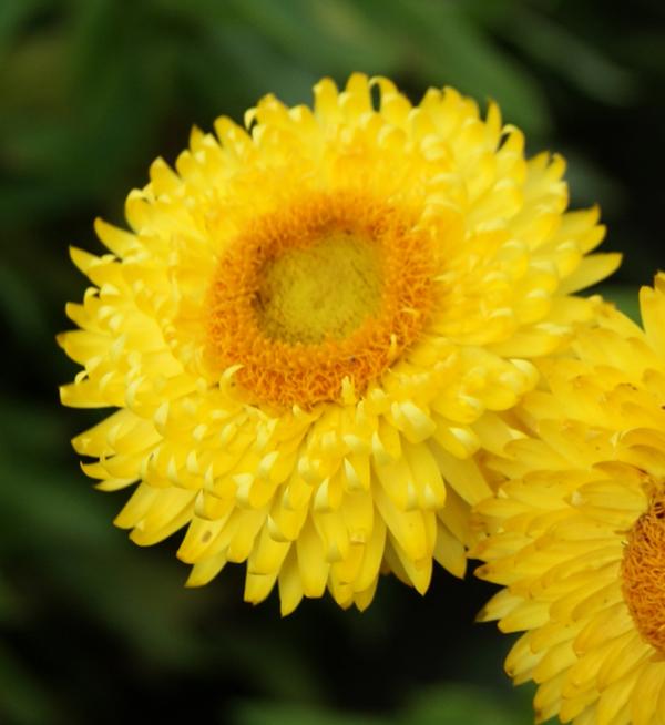
<path id="1" fill-rule="evenodd" d="M 259 328 L 285 343 L 348 337 L 381 304 L 381 270 L 371 239 L 334 232 L 268 262 L 254 300 Z"/>

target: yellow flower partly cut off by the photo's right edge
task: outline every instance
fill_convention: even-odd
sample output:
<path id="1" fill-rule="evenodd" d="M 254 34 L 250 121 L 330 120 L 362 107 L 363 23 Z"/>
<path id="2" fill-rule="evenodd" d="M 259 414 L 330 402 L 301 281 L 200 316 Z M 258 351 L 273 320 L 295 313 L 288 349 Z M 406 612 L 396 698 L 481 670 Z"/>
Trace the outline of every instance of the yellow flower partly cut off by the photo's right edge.
<path id="1" fill-rule="evenodd" d="M 477 508 L 477 573 L 505 586 L 480 619 L 526 631 L 505 667 L 538 721 L 665 722 L 665 275 L 641 302 L 644 331 L 607 307 L 541 366 Z"/>

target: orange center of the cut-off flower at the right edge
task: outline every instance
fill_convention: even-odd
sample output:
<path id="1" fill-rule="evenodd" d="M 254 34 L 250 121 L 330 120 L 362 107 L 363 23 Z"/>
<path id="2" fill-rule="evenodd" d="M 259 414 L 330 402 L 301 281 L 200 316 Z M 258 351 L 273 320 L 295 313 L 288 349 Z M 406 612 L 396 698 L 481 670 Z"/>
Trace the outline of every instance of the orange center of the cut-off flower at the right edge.
<path id="1" fill-rule="evenodd" d="M 622 582 L 640 634 L 665 654 L 665 492 L 654 497 L 631 529 Z"/>

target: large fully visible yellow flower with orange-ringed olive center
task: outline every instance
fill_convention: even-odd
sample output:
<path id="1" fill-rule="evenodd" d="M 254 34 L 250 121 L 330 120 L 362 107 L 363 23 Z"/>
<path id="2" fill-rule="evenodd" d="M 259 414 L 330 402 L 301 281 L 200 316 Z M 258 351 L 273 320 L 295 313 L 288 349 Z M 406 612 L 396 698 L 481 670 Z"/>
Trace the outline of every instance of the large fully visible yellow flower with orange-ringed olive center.
<path id="1" fill-rule="evenodd" d="M 245 126 L 195 130 L 130 193 L 131 232 L 98 222 L 111 254 L 72 251 L 93 286 L 62 401 L 119 409 L 74 439 L 83 468 L 139 482 L 136 543 L 187 527 L 188 584 L 246 561 L 245 599 L 278 582 L 284 613 L 326 588 L 362 609 L 381 571 L 424 592 L 432 559 L 461 576 L 494 411 L 618 264 L 585 256 L 597 211 L 566 213 L 563 161 L 451 89 L 324 80 Z"/>

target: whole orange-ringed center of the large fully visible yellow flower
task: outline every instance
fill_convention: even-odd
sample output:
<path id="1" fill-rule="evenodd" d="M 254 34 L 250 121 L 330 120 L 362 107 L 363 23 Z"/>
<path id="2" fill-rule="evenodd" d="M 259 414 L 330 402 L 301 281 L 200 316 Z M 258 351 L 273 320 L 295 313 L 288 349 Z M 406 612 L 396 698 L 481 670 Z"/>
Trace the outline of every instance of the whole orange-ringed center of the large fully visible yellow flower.
<path id="1" fill-rule="evenodd" d="M 313 194 L 256 218 L 206 298 L 206 357 L 256 402 L 309 408 L 362 392 L 412 344 L 433 302 L 432 243 L 409 210 Z"/>

